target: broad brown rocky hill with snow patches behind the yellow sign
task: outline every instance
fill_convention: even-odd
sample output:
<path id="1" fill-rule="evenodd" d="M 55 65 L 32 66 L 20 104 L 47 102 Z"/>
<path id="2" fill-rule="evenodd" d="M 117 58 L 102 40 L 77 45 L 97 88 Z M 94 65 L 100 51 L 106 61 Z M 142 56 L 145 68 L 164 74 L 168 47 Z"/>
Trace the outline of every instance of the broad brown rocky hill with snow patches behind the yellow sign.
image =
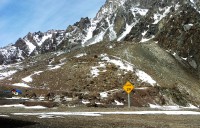
<path id="1" fill-rule="evenodd" d="M 26 97 L 34 93 L 66 105 L 124 106 L 126 81 L 135 85 L 133 106 L 200 103 L 198 79 L 155 42 L 101 42 L 70 53 L 38 55 L 5 69 L 16 72 L 1 80 L 4 88 L 21 88 Z"/>

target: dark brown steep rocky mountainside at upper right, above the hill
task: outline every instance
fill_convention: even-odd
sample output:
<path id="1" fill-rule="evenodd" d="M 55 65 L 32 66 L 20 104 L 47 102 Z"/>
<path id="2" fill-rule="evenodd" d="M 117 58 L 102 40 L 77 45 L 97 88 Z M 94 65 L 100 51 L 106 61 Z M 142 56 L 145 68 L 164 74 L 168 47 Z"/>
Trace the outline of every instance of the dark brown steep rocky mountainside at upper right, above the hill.
<path id="1" fill-rule="evenodd" d="M 174 4 L 175 3 L 175 4 Z M 158 41 L 188 71 L 199 76 L 199 2 L 170 1 L 152 6 L 147 15 L 126 36 L 127 41 Z M 160 3 L 161 4 L 161 3 Z"/>

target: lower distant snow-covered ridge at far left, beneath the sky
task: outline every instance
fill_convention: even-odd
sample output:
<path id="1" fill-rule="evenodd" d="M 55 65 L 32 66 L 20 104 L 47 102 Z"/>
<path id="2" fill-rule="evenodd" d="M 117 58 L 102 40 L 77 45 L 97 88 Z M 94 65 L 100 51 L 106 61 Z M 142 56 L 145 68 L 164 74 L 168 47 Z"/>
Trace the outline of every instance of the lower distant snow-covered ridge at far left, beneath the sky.
<path id="1" fill-rule="evenodd" d="M 27 57 L 55 51 L 64 40 L 64 30 L 28 33 L 15 44 L 0 49 L 0 64 L 21 61 Z"/>

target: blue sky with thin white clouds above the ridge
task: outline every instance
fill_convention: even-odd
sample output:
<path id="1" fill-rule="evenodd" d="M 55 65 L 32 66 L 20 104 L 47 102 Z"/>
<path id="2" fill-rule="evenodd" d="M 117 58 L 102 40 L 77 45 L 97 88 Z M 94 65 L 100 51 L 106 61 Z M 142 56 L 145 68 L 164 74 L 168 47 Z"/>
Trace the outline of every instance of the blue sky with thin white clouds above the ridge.
<path id="1" fill-rule="evenodd" d="M 0 0 L 0 47 L 28 32 L 65 30 L 81 17 L 93 18 L 106 0 Z"/>

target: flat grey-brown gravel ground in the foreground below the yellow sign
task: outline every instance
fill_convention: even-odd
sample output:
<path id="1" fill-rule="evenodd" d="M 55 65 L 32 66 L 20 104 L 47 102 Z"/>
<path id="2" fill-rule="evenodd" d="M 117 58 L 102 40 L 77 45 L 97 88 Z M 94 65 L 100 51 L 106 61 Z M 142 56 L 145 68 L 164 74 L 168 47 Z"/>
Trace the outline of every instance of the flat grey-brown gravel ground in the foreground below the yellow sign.
<path id="1" fill-rule="evenodd" d="M 138 111 L 147 108 L 53 108 L 27 110 L 22 108 L 1 108 L 2 128 L 200 128 L 200 115 L 103 115 L 63 116 L 59 118 L 38 118 L 37 116 L 14 116 L 11 113 L 40 112 L 88 112 L 88 111 Z"/>

